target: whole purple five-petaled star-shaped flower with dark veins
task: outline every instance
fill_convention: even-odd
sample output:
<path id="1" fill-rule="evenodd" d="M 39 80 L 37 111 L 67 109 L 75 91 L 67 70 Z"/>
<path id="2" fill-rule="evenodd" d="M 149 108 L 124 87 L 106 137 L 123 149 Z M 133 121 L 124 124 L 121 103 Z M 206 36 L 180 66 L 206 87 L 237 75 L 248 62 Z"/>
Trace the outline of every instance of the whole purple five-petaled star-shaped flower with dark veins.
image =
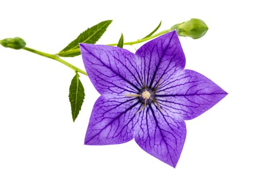
<path id="1" fill-rule="evenodd" d="M 101 94 L 84 144 L 132 140 L 176 167 L 186 138 L 184 120 L 210 109 L 227 93 L 196 71 L 183 69 L 176 31 L 159 36 L 133 54 L 111 46 L 80 44 L 85 69 Z"/>

